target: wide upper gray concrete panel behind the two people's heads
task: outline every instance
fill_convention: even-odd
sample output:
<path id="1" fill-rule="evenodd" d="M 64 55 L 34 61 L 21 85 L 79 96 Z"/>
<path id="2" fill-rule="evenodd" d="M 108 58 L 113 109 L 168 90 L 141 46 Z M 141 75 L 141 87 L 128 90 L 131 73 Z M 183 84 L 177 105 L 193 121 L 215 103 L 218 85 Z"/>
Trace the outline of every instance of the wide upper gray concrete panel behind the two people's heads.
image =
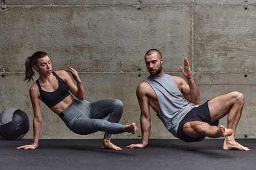
<path id="1" fill-rule="evenodd" d="M 23 72 L 26 57 L 46 51 L 56 69 L 129 71 L 158 48 L 171 57 L 166 71 L 190 56 L 190 7 L 6 8 L 0 15 L 0 68 Z M 15 50 L 14 50 L 15 49 Z"/>

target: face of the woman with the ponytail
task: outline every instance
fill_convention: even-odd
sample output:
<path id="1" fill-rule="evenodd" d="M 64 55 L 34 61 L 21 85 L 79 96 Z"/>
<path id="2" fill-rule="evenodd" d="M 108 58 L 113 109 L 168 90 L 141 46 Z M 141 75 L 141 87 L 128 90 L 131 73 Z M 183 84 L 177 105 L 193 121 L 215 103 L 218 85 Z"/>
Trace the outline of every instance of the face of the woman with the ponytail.
<path id="1" fill-rule="evenodd" d="M 35 70 L 39 72 L 39 75 L 51 75 L 52 74 L 52 63 L 48 55 L 39 58 L 37 65 L 34 65 Z"/>

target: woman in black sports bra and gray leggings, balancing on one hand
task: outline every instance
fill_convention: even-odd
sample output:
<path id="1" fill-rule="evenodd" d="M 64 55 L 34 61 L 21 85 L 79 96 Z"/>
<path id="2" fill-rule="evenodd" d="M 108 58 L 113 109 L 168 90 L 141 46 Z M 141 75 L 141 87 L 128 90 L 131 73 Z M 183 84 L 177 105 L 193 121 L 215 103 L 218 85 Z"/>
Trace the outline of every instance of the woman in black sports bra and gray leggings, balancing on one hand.
<path id="1" fill-rule="evenodd" d="M 43 51 L 37 51 L 28 57 L 25 66 L 26 77 L 24 80 L 28 80 L 28 82 L 33 80 L 35 74 L 33 69 L 39 73 L 39 79 L 29 89 L 34 111 L 34 142 L 17 149 L 36 149 L 39 146 L 39 132 L 42 122 L 39 100 L 59 115 L 71 131 L 79 135 L 88 135 L 97 131 L 105 132 L 102 149 L 121 150 L 120 147 L 110 142 L 111 134 L 123 132 L 134 134 L 137 131 L 135 123 L 125 126 L 118 124 L 123 111 L 121 101 L 117 99 L 85 101 L 84 89 L 78 72 L 74 68 L 68 67 L 77 85 L 74 84 L 65 70 L 53 72 L 51 60 Z M 109 116 L 108 121 L 103 120 L 107 116 Z"/>

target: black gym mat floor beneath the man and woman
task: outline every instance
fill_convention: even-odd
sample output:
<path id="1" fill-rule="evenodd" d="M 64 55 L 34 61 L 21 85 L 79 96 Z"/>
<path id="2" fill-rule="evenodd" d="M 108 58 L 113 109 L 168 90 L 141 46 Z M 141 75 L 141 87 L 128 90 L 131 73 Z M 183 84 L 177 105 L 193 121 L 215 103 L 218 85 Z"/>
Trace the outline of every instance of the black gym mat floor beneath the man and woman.
<path id="1" fill-rule="evenodd" d="M 36 150 L 17 150 L 32 139 L 0 140 L 0 170 L 254 170 L 256 139 L 236 139 L 250 148 L 222 150 L 223 139 L 185 143 L 150 139 L 143 149 L 126 148 L 140 139 L 112 139 L 122 151 L 102 150 L 102 139 L 40 139 Z"/>

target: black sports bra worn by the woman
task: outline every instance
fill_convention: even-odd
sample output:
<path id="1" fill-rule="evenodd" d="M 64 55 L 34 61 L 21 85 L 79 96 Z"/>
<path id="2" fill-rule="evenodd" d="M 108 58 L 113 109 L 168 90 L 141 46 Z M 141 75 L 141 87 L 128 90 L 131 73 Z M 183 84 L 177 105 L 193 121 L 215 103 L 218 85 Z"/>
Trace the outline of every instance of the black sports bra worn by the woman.
<path id="1" fill-rule="evenodd" d="M 44 91 L 41 89 L 39 81 L 38 80 L 36 81 L 39 88 L 41 101 L 44 102 L 49 108 L 55 106 L 70 94 L 65 82 L 61 78 L 59 78 L 59 76 L 55 72 L 52 72 L 52 73 L 58 79 L 59 85 L 56 91 L 53 91 L 53 92 Z"/>

